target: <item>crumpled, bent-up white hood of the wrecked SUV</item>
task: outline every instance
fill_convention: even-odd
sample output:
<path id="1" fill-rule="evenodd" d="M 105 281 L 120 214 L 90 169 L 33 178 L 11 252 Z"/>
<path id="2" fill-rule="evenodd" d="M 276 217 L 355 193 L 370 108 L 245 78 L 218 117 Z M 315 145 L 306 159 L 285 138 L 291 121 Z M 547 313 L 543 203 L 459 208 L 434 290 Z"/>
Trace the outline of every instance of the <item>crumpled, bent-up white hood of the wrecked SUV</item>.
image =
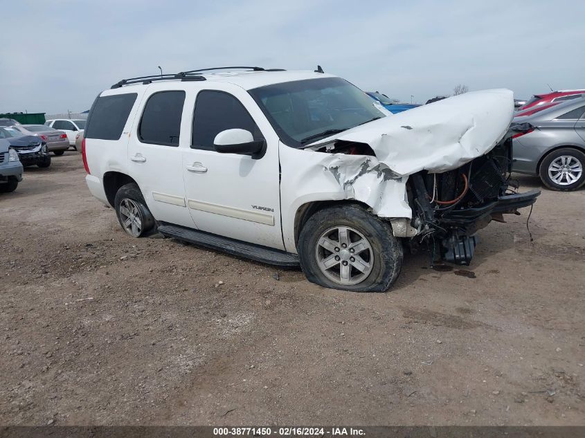
<path id="1" fill-rule="evenodd" d="M 475 91 L 374 120 L 309 147 L 336 140 L 367 143 L 378 161 L 399 175 L 447 172 L 489 152 L 513 115 L 512 91 Z"/>

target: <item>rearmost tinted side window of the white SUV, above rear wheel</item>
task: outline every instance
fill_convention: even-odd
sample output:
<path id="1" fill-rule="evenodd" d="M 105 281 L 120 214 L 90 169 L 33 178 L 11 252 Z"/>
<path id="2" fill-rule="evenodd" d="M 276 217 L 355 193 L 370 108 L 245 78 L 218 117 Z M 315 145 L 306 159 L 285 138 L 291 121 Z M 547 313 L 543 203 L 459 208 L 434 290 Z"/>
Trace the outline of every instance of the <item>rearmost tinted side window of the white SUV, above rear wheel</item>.
<path id="1" fill-rule="evenodd" d="M 138 94 L 105 95 L 93 102 L 87 118 L 85 138 L 120 140 L 126 120 Z M 53 125 L 55 127 L 55 125 Z"/>

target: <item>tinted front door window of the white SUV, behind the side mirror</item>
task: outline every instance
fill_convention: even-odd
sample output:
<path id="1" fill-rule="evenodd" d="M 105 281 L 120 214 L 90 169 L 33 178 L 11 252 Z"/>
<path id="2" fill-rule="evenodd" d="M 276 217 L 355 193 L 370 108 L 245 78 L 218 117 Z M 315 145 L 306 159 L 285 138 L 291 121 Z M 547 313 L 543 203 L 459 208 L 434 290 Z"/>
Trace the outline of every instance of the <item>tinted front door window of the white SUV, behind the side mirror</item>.
<path id="1" fill-rule="evenodd" d="M 193 114 L 192 149 L 215 150 L 215 136 L 226 129 L 246 129 L 254 140 L 264 137 L 240 100 L 223 91 L 200 91 Z"/>

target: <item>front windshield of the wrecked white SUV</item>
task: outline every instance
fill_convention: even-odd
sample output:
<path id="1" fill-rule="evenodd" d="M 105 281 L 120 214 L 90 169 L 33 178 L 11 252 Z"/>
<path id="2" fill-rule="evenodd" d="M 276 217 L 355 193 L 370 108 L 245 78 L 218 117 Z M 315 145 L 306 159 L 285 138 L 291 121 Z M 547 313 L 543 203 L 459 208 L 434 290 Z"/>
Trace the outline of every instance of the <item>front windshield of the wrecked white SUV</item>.
<path id="1" fill-rule="evenodd" d="M 249 93 L 280 139 L 293 147 L 386 116 L 372 98 L 341 77 L 283 82 Z"/>

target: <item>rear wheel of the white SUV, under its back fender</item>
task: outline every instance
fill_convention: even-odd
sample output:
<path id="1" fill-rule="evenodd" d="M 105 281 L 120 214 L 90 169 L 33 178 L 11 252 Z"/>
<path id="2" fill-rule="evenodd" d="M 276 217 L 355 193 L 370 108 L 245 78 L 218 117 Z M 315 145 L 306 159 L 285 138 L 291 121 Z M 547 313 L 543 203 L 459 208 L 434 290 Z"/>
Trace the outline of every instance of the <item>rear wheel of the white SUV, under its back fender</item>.
<path id="1" fill-rule="evenodd" d="M 114 199 L 114 206 L 120 226 L 132 237 L 143 237 L 154 228 L 154 217 L 135 183 L 120 187 Z"/>

